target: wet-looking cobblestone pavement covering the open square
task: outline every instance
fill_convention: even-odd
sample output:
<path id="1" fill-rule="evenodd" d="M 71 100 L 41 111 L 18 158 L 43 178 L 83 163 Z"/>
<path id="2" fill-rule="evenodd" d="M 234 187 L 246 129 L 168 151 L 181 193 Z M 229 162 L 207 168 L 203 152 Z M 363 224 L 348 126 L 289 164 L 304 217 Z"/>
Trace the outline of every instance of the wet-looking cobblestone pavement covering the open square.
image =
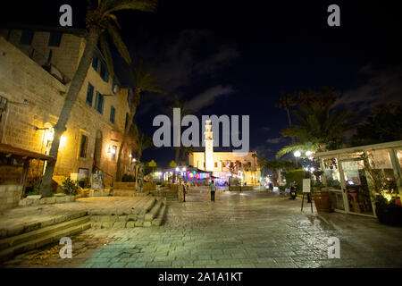
<path id="1" fill-rule="evenodd" d="M 352 214 L 311 214 L 309 208 L 301 213 L 300 198 L 266 192 L 220 191 L 215 197 L 213 203 L 208 193 L 192 190 L 186 203 L 170 202 L 161 227 L 85 231 L 73 238 L 72 259 L 58 258 L 60 247 L 54 246 L 3 266 L 402 266 L 401 228 Z M 339 259 L 328 258 L 329 237 L 340 240 Z"/>

